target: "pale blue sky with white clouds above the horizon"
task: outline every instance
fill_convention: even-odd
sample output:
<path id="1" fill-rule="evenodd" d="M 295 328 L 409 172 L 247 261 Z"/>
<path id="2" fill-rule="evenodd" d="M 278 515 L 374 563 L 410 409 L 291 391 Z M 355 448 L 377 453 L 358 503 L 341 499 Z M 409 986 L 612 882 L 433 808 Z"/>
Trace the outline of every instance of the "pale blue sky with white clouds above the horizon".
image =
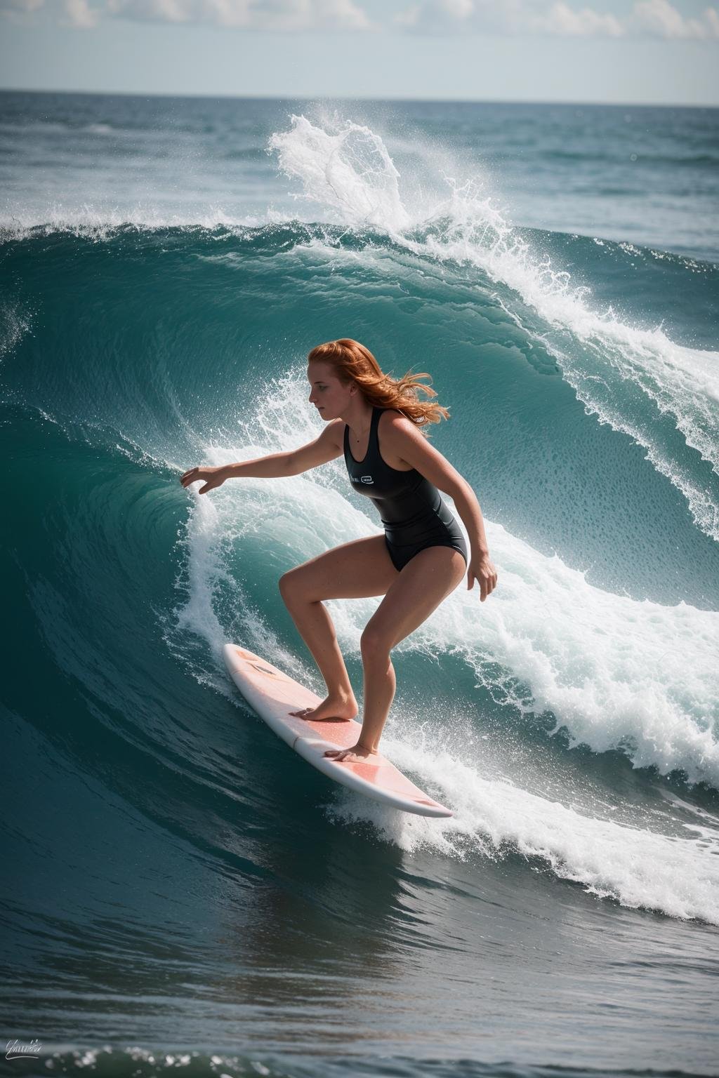
<path id="1" fill-rule="evenodd" d="M 0 0 L 0 86 L 719 106 L 719 4 Z"/>

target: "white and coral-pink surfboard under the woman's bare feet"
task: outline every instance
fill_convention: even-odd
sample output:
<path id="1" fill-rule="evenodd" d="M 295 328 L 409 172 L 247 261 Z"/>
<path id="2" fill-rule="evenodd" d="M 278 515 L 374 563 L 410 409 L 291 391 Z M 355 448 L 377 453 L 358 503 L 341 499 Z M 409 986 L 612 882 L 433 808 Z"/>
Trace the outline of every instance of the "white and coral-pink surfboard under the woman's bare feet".
<path id="1" fill-rule="evenodd" d="M 290 715 L 303 707 L 317 707 L 320 697 L 246 648 L 225 644 L 223 650 L 227 671 L 250 707 L 278 737 L 328 778 L 402 812 L 417 816 L 453 815 L 451 808 L 433 801 L 379 754 L 367 760 L 340 762 L 324 756 L 328 748 L 356 745 L 361 724 L 355 719 L 308 722 Z"/>

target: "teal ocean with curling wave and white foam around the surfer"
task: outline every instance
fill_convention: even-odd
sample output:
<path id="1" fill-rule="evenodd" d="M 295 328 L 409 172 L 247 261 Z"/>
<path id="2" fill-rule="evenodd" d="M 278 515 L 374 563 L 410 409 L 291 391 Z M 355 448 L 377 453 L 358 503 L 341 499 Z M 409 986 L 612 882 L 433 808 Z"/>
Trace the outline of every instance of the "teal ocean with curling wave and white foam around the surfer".
<path id="1" fill-rule="evenodd" d="M 2 1074 L 719 1072 L 718 165 L 716 109 L 0 95 Z M 431 375 L 498 570 L 392 653 L 451 819 L 224 668 L 322 692 L 277 583 L 379 534 L 343 460 L 179 483 L 315 438 L 338 336 Z"/>

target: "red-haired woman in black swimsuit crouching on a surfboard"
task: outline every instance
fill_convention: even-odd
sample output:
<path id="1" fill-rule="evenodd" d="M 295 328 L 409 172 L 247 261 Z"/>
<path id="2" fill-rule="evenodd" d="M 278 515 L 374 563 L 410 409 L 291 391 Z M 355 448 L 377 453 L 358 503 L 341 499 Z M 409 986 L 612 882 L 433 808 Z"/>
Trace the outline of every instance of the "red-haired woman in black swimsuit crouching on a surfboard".
<path id="1" fill-rule="evenodd" d="M 309 403 L 326 424 L 319 438 L 257 460 L 191 468 L 180 479 L 184 487 L 203 480 L 198 493 L 207 494 L 226 479 L 299 475 L 344 455 L 352 489 L 378 510 L 384 535 L 328 550 L 279 581 L 282 599 L 327 685 L 321 704 L 292 713 L 304 719 L 352 719 L 358 714 L 322 599 L 384 595 L 361 638 L 362 730 L 351 748 L 327 750 L 324 755 L 337 761 L 377 752 L 397 688 L 392 648 L 429 618 L 465 572 L 468 589 L 479 584 L 481 602 L 497 585 L 474 493 L 425 437 L 428 424 L 448 416 L 445 407 L 418 399 L 418 392 L 437 396 L 419 384 L 427 377 L 406 374 L 395 379 L 383 374 L 372 353 L 347 337 L 320 344 L 307 357 Z M 469 536 L 469 554 L 439 490 L 454 499 Z"/>

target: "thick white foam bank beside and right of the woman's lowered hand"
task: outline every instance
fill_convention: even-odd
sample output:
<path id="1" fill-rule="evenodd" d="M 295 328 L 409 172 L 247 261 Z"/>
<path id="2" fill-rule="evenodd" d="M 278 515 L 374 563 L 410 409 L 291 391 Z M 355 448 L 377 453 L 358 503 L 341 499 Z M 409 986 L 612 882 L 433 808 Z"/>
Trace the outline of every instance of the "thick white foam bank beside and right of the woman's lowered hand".
<path id="1" fill-rule="evenodd" d="M 481 608 L 455 593 L 416 645 L 433 632 L 495 699 L 551 710 L 575 744 L 719 785 L 719 614 L 614 595 L 498 524 L 488 534 L 501 588 Z"/>

